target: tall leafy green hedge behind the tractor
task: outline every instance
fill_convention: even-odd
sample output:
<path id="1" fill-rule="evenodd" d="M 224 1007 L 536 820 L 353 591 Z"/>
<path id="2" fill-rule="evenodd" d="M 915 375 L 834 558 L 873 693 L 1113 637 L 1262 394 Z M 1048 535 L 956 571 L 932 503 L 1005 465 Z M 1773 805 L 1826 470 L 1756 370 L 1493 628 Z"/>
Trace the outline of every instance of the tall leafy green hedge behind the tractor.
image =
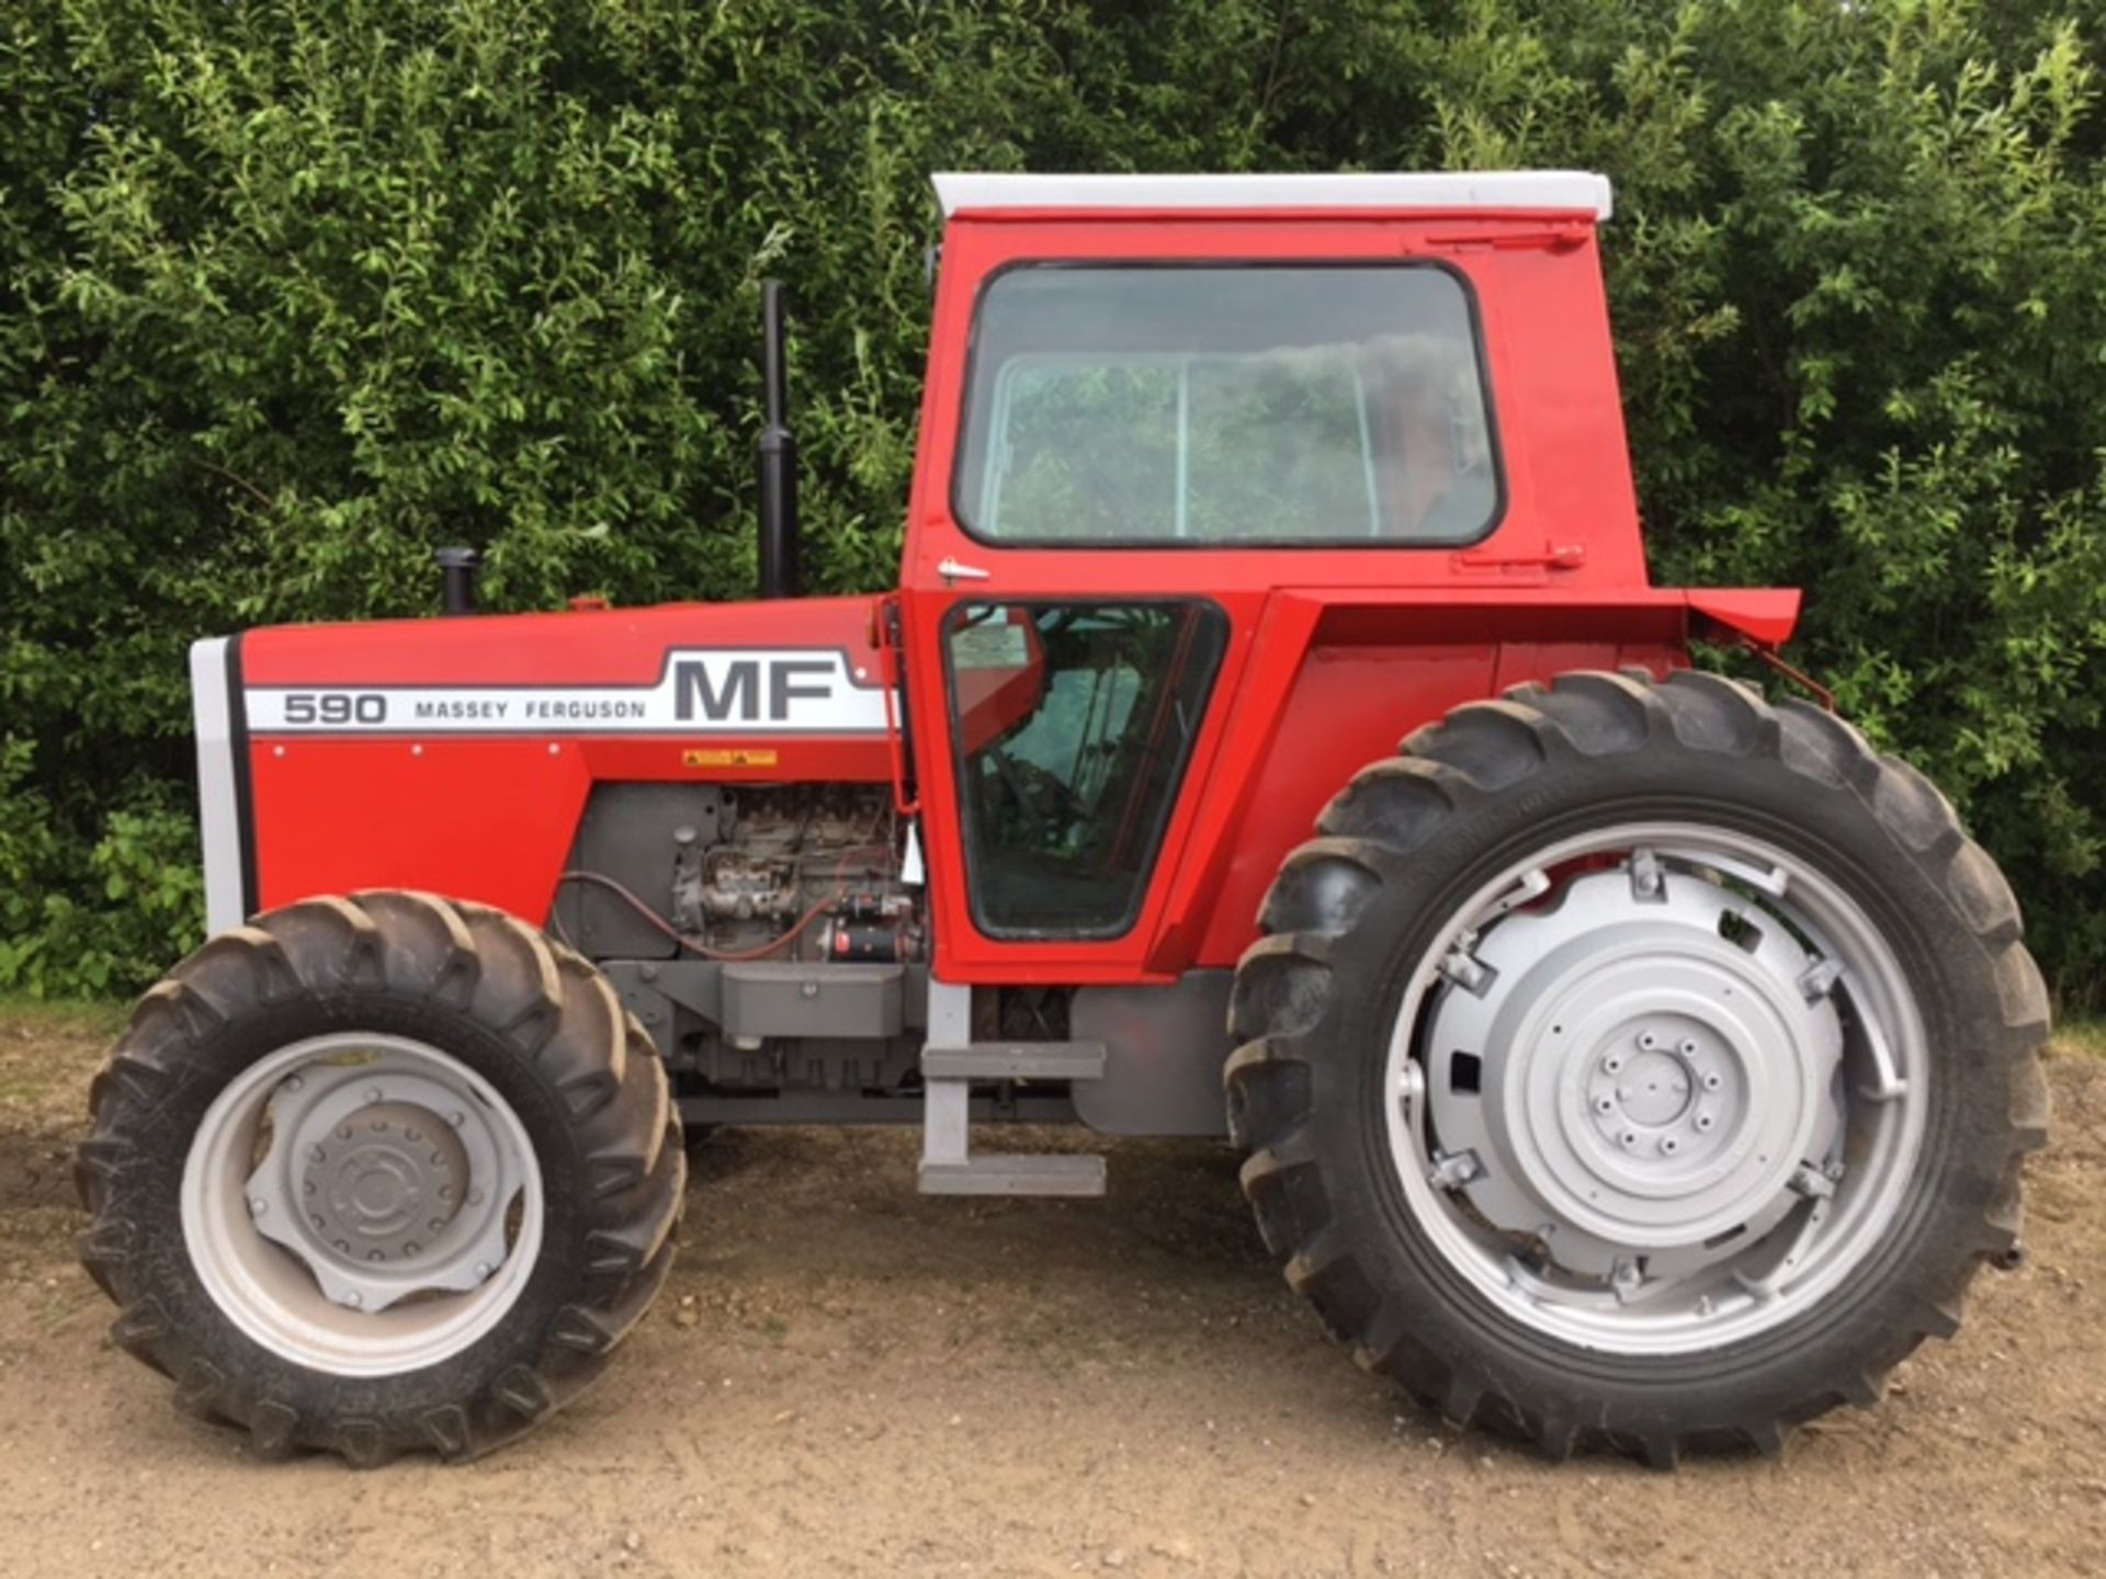
<path id="1" fill-rule="evenodd" d="M 0 987 L 198 931 L 183 646 L 752 575 L 756 286 L 813 579 L 893 577 L 931 168 L 1592 166 L 1655 573 L 1796 659 L 2106 962 L 2095 6 L 13 0 Z"/>

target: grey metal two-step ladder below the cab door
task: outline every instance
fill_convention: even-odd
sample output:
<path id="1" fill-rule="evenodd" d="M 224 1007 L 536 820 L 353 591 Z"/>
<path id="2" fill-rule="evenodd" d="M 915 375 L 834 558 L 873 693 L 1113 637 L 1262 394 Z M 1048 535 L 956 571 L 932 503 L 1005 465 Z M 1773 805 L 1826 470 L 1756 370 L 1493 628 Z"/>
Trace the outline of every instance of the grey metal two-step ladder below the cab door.
<path id="1" fill-rule="evenodd" d="M 922 1046 L 925 1196 L 1101 1196 L 1104 1158 L 971 1152 L 975 1080 L 1101 1080 L 1104 1042 L 975 1042 L 973 990 L 929 983 Z"/>

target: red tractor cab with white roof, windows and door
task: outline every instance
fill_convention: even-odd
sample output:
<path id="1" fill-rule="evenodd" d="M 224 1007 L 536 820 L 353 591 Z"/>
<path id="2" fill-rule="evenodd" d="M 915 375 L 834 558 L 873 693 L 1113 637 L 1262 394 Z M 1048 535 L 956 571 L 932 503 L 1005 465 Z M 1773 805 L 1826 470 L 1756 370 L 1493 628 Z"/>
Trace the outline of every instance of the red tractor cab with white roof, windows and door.
<path id="1" fill-rule="evenodd" d="M 941 975 L 1224 968 L 1291 830 L 1417 718 L 1575 657 L 1546 625 L 1678 661 L 1603 177 L 935 187 L 901 611 L 914 790 L 958 830 Z"/>

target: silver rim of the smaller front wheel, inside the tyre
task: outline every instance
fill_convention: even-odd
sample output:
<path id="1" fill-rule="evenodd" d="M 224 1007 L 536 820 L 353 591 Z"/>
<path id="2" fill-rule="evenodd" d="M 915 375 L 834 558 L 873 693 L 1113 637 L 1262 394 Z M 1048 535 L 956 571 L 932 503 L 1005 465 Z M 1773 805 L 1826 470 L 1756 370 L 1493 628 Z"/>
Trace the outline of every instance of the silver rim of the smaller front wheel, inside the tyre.
<path id="1" fill-rule="evenodd" d="M 183 1162 L 183 1242 L 272 1354 L 350 1377 L 470 1347 L 541 1248 L 541 1171 L 512 1105 L 404 1036 L 314 1036 L 253 1063 Z"/>

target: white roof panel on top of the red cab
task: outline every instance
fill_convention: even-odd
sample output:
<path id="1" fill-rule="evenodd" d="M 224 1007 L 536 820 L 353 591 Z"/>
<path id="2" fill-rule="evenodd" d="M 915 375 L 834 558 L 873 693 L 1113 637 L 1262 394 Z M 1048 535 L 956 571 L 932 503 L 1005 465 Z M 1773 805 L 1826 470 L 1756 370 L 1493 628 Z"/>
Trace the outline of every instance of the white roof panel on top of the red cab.
<path id="1" fill-rule="evenodd" d="M 935 177 L 965 208 L 1584 208 L 1609 217 L 1609 177 L 1588 171 L 1426 175 L 967 175 Z"/>

